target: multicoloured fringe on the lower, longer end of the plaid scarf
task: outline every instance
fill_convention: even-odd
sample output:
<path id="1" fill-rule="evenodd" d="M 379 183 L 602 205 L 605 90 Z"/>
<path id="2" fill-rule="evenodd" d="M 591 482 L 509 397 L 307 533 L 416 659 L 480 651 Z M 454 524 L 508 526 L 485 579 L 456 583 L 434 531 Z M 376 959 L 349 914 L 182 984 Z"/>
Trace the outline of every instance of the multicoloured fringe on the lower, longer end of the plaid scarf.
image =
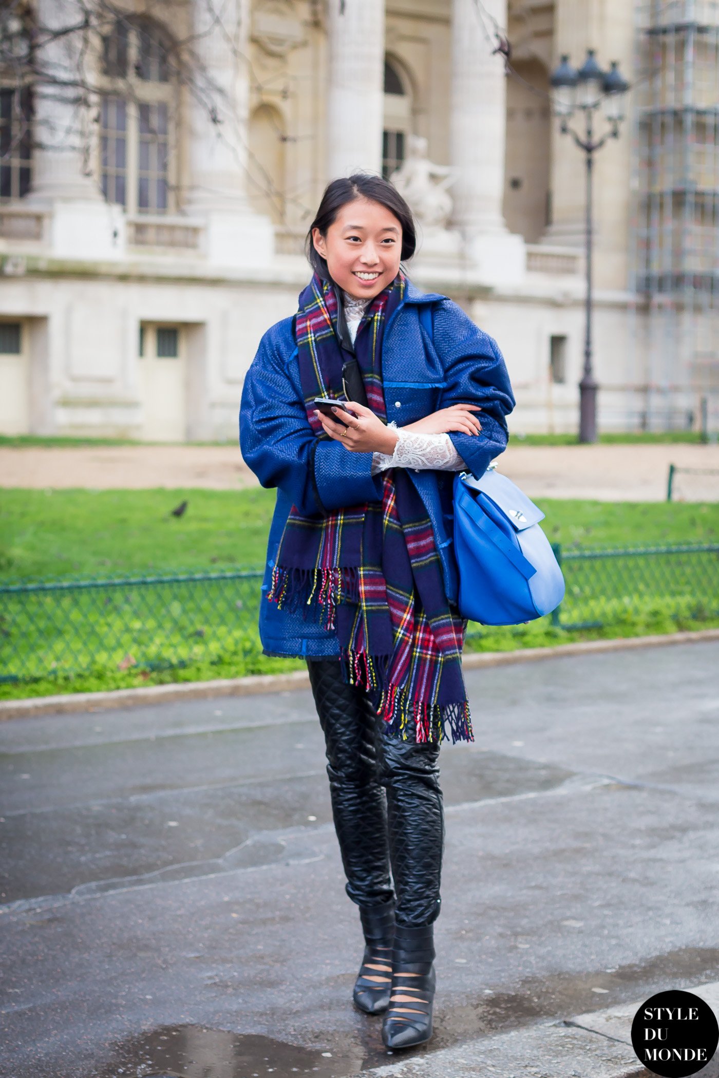
<path id="1" fill-rule="evenodd" d="M 401 686 L 387 685 L 389 655 L 343 650 L 341 657 L 345 679 L 373 695 L 377 715 L 391 736 L 420 745 L 450 737 L 453 745 L 474 741 L 468 701 L 442 705 L 412 701 Z"/>

